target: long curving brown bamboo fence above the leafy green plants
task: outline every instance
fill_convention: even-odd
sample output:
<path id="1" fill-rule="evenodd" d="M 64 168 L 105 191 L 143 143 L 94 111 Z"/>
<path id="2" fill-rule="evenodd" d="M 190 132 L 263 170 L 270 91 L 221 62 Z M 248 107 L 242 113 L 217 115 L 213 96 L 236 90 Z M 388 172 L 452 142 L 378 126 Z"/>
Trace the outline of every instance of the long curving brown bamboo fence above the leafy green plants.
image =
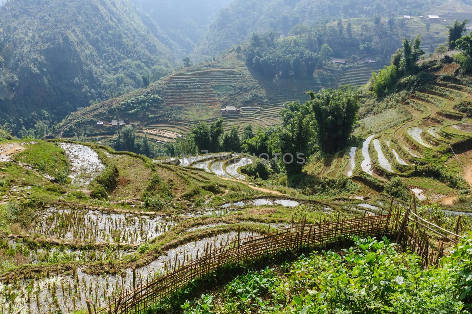
<path id="1" fill-rule="evenodd" d="M 93 312 L 109 314 L 144 313 L 163 297 L 169 297 L 178 289 L 185 288 L 191 281 L 209 276 L 226 264 L 245 264 L 247 262 L 276 256 L 278 254 L 298 252 L 302 249 L 313 249 L 335 245 L 340 241 L 351 239 L 352 236 L 394 236 L 398 233 L 399 211 L 388 215 L 364 216 L 328 223 L 306 224 L 306 219 L 295 227 L 285 228 L 264 235 L 252 235 L 240 238 L 240 230 L 236 240 L 220 243 L 215 248 L 208 243 L 205 253 L 185 264 L 170 268 L 169 273 L 141 287 L 123 291 L 108 306 Z M 87 303 L 89 313 L 92 313 Z"/>

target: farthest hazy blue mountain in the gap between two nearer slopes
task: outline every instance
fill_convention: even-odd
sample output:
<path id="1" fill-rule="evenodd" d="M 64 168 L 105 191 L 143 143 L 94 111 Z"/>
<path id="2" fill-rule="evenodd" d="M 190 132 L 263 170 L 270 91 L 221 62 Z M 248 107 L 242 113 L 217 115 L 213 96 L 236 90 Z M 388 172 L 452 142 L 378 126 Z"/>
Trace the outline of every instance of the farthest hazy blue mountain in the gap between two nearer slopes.
<path id="1" fill-rule="evenodd" d="M 230 0 L 132 0 L 160 29 L 189 53 Z"/>

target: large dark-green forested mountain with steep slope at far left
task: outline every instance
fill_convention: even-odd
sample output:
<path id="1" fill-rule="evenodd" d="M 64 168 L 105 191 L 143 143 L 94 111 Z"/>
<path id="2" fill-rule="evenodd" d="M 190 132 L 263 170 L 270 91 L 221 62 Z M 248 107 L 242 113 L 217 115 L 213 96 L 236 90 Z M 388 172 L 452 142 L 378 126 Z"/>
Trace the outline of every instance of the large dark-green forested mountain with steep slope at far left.
<path id="1" fill-rule="evenodd" d="M 0 25 L 0 119 L 17 128 L 147 86 L 178 60 L 127 0 L 10 0 Z"/>

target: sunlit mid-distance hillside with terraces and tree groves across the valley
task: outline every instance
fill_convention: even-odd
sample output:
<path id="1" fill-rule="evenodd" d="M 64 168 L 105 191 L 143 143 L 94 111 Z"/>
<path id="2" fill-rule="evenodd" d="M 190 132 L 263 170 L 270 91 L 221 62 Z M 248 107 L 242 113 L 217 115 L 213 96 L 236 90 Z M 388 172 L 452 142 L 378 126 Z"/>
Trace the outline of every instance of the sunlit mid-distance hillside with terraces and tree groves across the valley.
<path id="1" fill-rule="evenodd" d="M 342 20 L 344 31 L 336 37 L 332 36 L 339 29 L 336 22 L 327 29 L 315 27 L 274 42 L 261 35 L 259 44 L 246 42 L 240 52 L 230 50 L 222 58 L 183 68 L 146 89 L 71 113 L 57 125 L 56 132 L 65 138 L 82 133 L 90 139 L 111 138 L 118 130 L 108 124 L 123 119 L 134 125 L 138 135 L 147 133 L 148 138 L 157 142 L 173 142 L 181 132 L 186 134 L 199 122 L 216 121 L 221 116 L 220 109 L 226 106 L 236 106 L 241 112 L 223 116 L 225 131 L 236 125 L 273 126 L 280 121 L 278 112 L 285 102 L 296 99 L 303 102 L 307 99 L 305 91 L 365 84 L 372 71 L 378 72 L 389 63 L 390 55 L 401 47 L 403 36 L 411 38 L 426 33 L 426 21 L 422 18 L 404 21 L 397 17 L 395 21 L 393 33 L 386 22 L 376 26 L 371 18 L 351 18 Z M 351 33 L 347 32 L 349 24 Z M 426 43 L 422 41 L 421 47 L 433 44 L 431 38 L 433 45 L 445 42 L 446 24 L 432 25 L 430 33 L 435 37 L 425 37 Z M 314 36 L 318 36 L 316 43 Z M 320 57 L 323 43 L 329 43 L 333 57 L 345 58 L 346 63 L 323 60 Z M 360 46 L 371 48 L 361 50 Z M 248 59 L 249 52 L 259 54 L 255 54 L 254 60 L 258 59 L 260 65 Z M 303 56 L 314 62 L 312 75 L 307 74 L 308 59 Z M 366 63 L 366 58 L 374 62 Z M 288 64 L 288 72 L 281 67 L 281 60 Z M 97 121 L 105 125 L 97 127 Z"/>

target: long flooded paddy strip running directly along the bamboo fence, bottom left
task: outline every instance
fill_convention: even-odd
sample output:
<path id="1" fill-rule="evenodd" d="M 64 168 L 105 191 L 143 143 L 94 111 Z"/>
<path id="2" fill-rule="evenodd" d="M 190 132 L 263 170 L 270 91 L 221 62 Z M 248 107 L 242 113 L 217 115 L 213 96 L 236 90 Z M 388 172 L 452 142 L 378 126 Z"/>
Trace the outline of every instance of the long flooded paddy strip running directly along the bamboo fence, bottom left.
<path id="1" fill-rule="evenodd" d="M 240 237 L 245 238 L 251 235 L 241 232 Z M 170 249 L 166 256 L 160 256 L 151 264 L 136 269 L 136 286 L 152 281 L 174 264 L 178 266 L 196 258 L 197 255 L 202 256 L 206 246 L 219 247 L 235 240 L 236 237 L 237 232 L 228 232 Z M 131 289 L 133 271 L 126 269 L 118 275 L 97 276 L 88 275 L 78 269 L 74 275 L 64 276 L 51 273 L 49 278 L 30 280 L 21 276 L 16 284 L 12 281 L 8 289 L 4 283 L 0 283 L 0 291 L 8 291 L 0 294 L 0 306 L 4 313 L 13 314 L 22 306 L 26 308 L 20 312 L 21 314 L 49 314 L 57 313 L 59 310 L 62 313 L 71 313 L 85 308 L 86 299 L 93 300 L 95 306 L 102 307 L 119 291 Z M 11 294 L 8 296 L 11 292 L 14 297 Z M 8 300 L 7 297 L 9 297 Z"/>

